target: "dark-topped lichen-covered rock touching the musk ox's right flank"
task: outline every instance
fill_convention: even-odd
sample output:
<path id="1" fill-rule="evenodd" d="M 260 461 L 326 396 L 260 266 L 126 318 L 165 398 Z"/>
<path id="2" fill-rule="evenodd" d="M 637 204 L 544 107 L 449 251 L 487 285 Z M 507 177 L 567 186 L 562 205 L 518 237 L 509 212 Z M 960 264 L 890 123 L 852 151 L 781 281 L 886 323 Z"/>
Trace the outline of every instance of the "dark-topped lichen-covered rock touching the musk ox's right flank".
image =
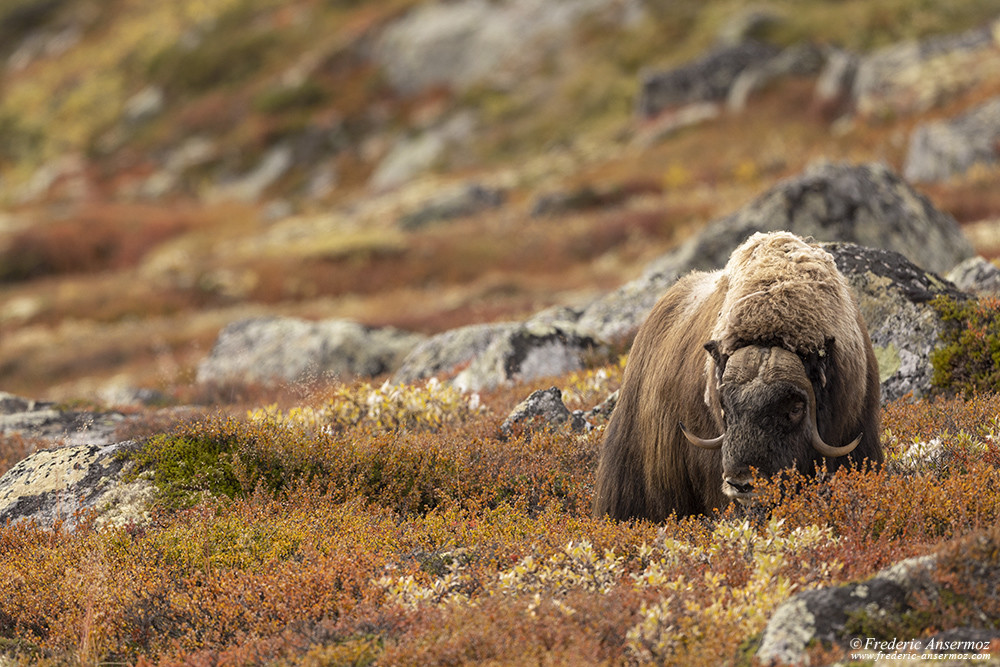
<path id="1" fill-rule="evenodd" d="M 849 243 L 824 244 L 858 301 L 879 362 L 882 402 L 931 389 L 931 351 L 943 323 L 930 306 L 938 295 L 966 299 L 943 278 L 924 271 L 899 253 Z"/>

